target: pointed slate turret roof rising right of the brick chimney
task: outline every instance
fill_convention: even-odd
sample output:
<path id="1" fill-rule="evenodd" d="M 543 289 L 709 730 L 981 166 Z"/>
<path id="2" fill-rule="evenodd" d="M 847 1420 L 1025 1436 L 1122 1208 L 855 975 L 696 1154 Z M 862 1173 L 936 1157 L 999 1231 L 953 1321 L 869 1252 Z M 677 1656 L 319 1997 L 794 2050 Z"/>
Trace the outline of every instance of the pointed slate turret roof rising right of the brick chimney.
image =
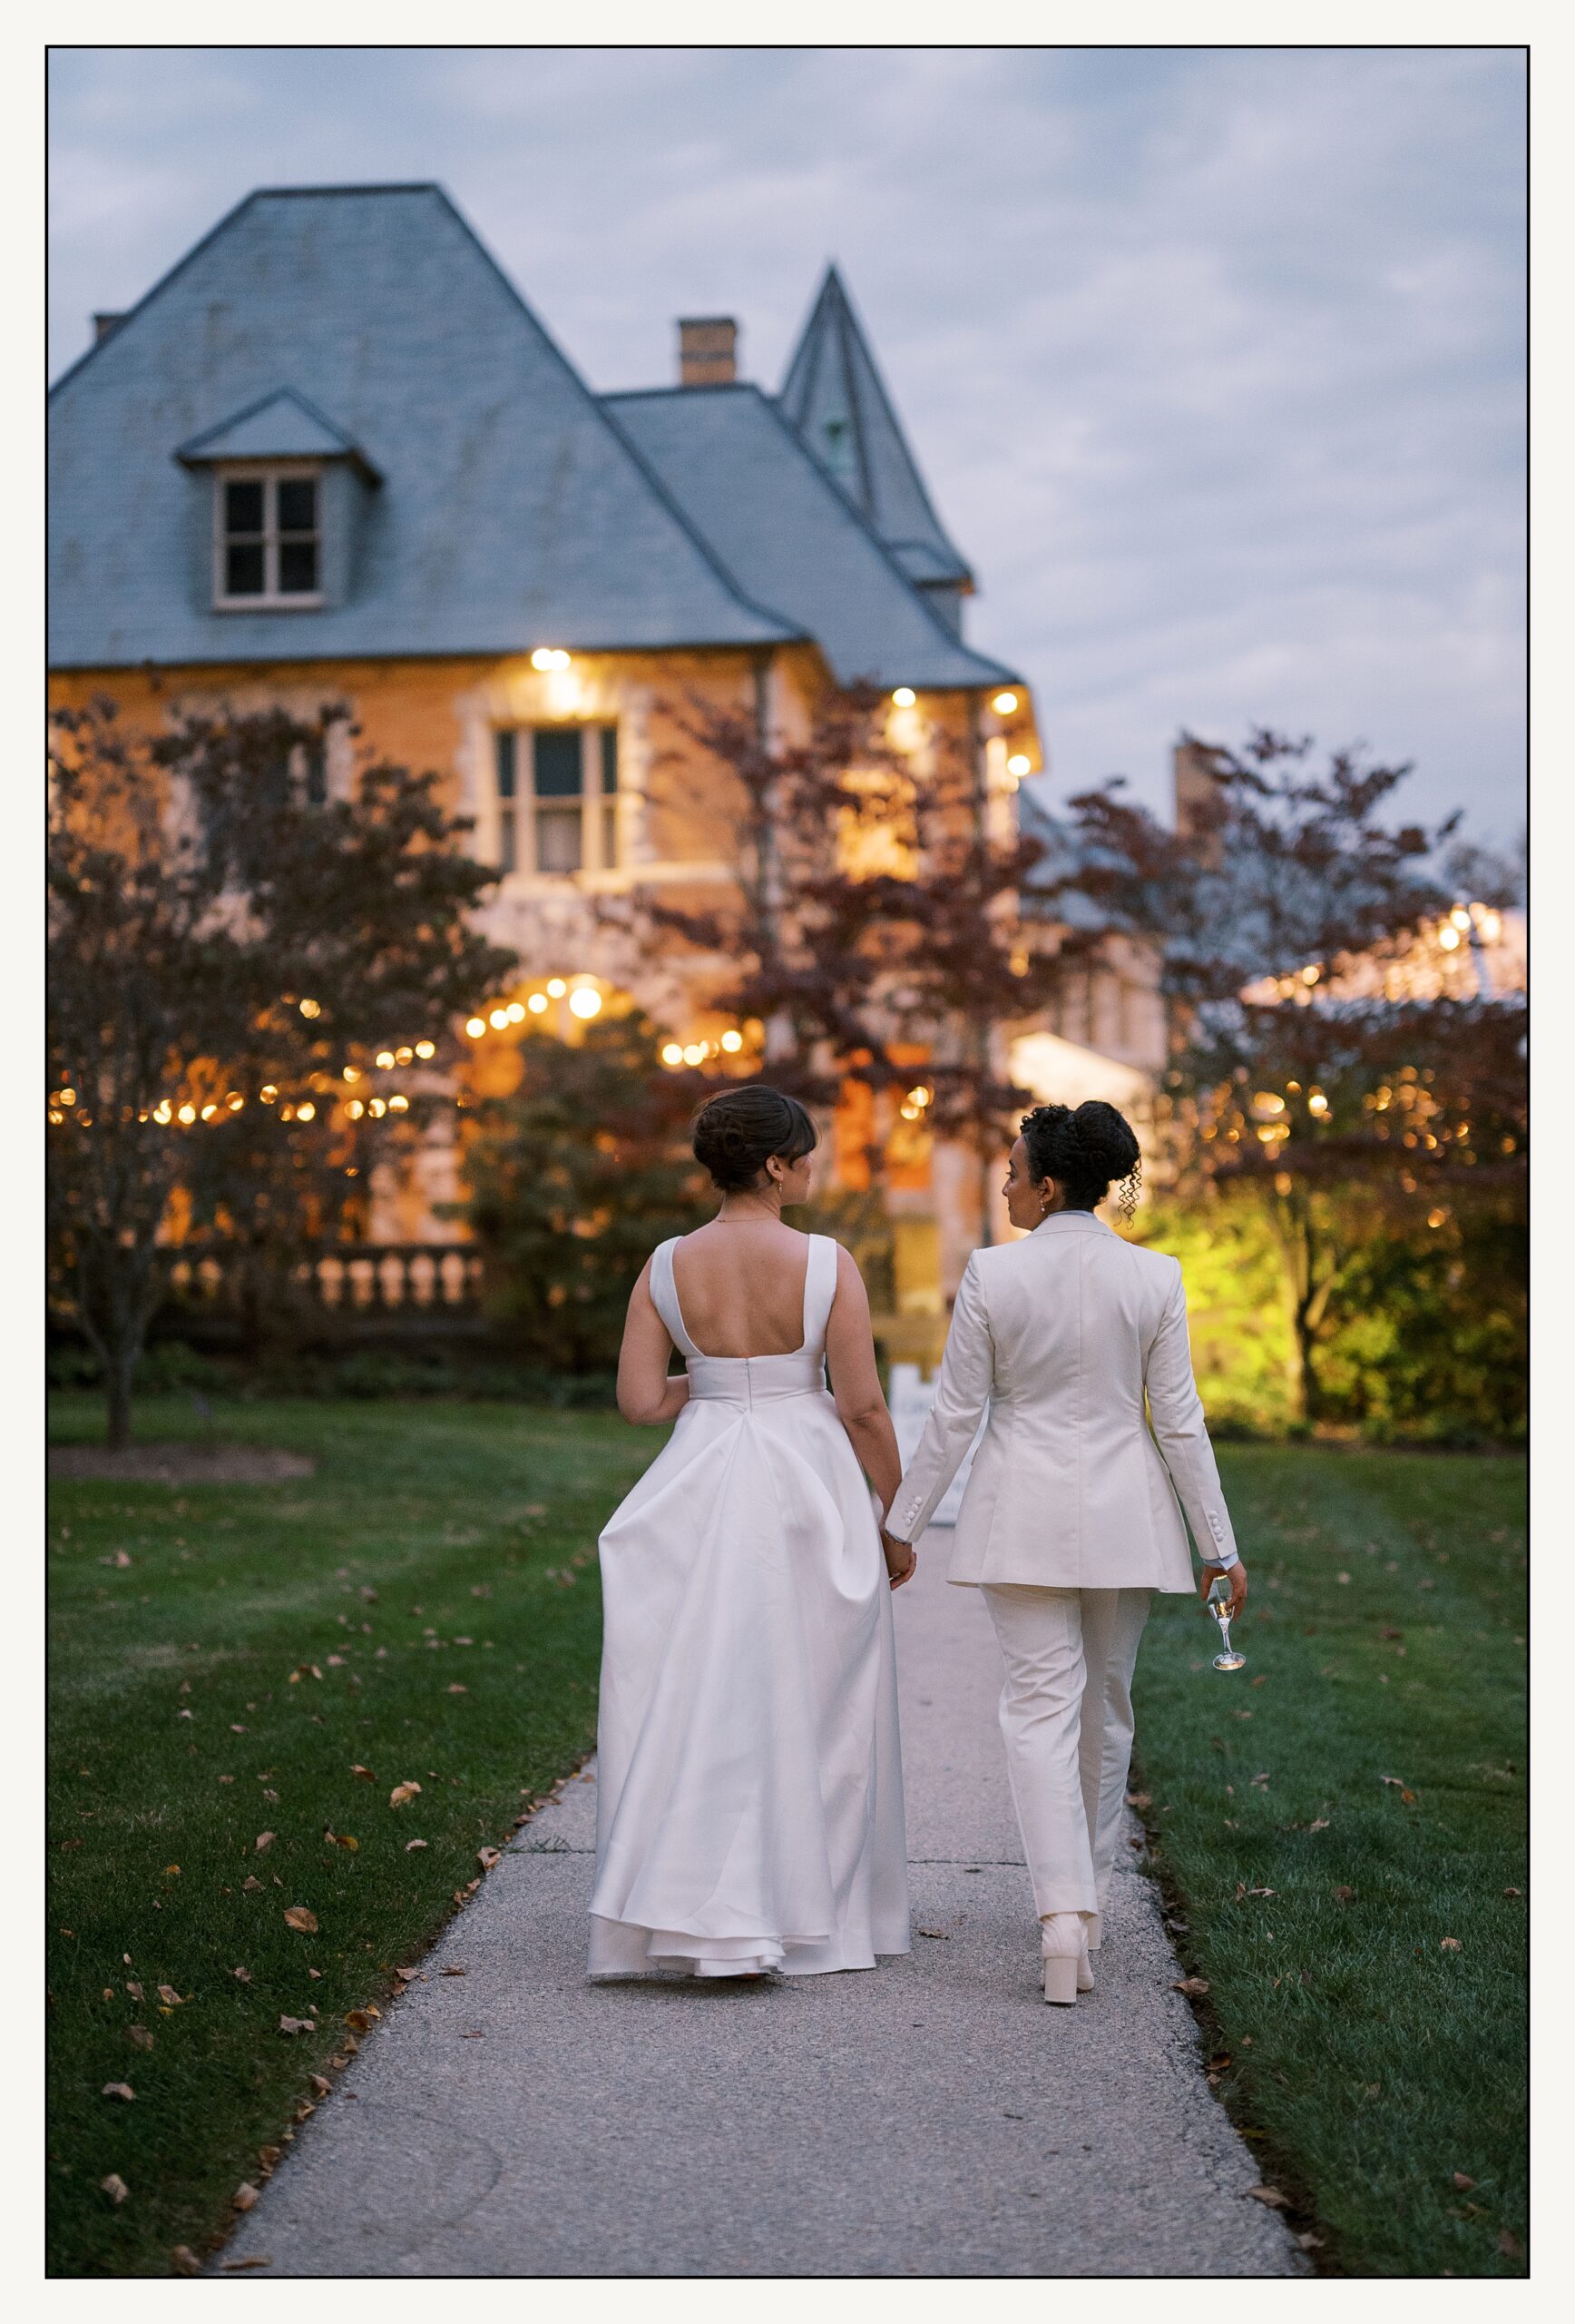
<path id="1" fill-rule="evenodd" d="M 836 267 L 825 272 L 778 402 L 827 476 L 864 511 L 913 581 L 971 583 L 964 558 L 929 504 Z"/>

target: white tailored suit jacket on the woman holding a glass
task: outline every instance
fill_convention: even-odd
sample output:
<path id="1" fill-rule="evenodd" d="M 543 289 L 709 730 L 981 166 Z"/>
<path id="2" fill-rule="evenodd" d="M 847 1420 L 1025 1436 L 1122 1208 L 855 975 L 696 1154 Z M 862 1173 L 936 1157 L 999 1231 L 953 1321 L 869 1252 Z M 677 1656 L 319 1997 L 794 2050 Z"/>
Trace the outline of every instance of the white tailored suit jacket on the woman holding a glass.
<path id="1" fill-rule="evenodd" d="M 1092 1211 L 1055 1211 L 1022 1241 L 976 1250 L 885 1520 L 897 1541 L 925 1532 L 985 1408 L 950 1580 L 1192 1590 L 1182 1508 L 1203 1557 L 1236 1557 L 1180 1260 L 1124 1243 Z"/>

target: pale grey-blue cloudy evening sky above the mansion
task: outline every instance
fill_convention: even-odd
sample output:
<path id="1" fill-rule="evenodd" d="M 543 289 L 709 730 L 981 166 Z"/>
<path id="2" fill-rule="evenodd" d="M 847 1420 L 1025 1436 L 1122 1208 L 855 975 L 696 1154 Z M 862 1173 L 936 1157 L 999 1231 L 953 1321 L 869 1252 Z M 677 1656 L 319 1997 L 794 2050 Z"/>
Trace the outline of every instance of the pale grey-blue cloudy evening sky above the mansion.
<path id="1" fill-rule="evenodd" d="M 74 49 L 51 367 L 253 186 L 439 179 L 597 388 L 843 265 L 1055 795 L 1182 725 L 1522 820 L 1522 60 L 1470 49 Z"/>

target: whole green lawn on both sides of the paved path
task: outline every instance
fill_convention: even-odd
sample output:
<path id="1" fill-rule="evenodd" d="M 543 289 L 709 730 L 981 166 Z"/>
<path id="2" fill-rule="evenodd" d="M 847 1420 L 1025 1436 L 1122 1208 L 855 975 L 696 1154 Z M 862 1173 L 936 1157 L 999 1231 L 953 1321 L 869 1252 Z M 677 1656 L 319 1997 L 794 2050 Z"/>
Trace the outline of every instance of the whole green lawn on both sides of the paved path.
<path id="1" fill-rule="evenodd" d="M 98 1429 L 56 1399 L 56 1441 Z M 346 2013 L 590 1748 L 595 1534 L 662 1441 L 502 1404 L 149 1399 L 139 1432 L 318 1473 L 51 1494 L 49 2231 L 74 2275 L 207 2247 Z M 1159 1599 L 1134 1776 L 1220 2092 L 1322 2264 L 1524 2273 L 1524 1469 L 1222 1464 L 1250 1662 L 1210 1671 L 1203 1618 Z"/>

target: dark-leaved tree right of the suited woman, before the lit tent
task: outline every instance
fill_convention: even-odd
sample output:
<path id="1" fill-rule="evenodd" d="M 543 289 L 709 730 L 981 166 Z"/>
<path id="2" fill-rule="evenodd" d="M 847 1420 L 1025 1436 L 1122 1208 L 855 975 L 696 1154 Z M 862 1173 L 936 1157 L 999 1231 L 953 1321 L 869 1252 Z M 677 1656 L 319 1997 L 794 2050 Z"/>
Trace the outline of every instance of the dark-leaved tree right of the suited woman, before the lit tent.
<path id="1" fill-rule="evenodd" d="M 1380 820 L 1408 767 L 1333 753 L 1310 769 L 1310 744 L 1273 732 L 1240 753 L 1187 741 L 1210 788 L 1180 827 L 1117 786 L 1087 792 L 1059 885 L 1159 944 L 1171 1157 L 1194 1192 L 1264 1206 L 1294 1401 L 1315 1418 L 1357 1253 L 1380 1234 L 1447 1241 L 1466 1213 L 1524 1199 L 1524 999 L 1473 964 L 1494 909 L 1431 871 L 1457 818 Z M 1445 858 L 1443 876 L 1463 869 L 1480 865 Z"/>

